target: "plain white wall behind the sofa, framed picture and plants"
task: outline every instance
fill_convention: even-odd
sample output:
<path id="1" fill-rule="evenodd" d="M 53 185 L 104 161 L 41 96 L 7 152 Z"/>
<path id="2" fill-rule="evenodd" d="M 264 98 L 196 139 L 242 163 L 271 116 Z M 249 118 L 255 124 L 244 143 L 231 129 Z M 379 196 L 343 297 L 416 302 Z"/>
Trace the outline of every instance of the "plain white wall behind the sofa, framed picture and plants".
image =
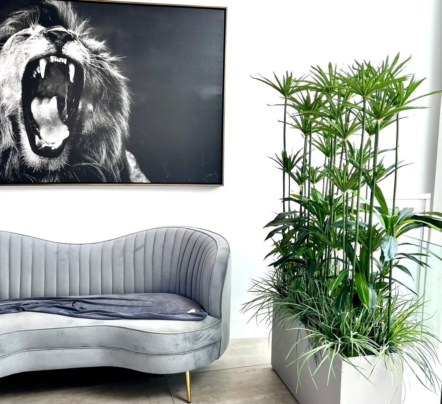
<path id="1" fill-rule="evenodd" d="M 265 270 L 263 225 L 280 209 L 280 175 L 266 156 L 282 149 L 278 97 L 252 80 L 258 73 L 301 76 L 310 65 L 413 55 L 409 72 L 440 88 L 439 0 L 370 2 L 193 1 L 228 6 L 224 187 L 2 187 L 0 228 L 65 242 L 89 242 L 160 225 L 192 225 L 219 232 L 232 248 L 232 337 L 267 335 L 241 305 L 249 278 Z M 411 21 L 412 20 L 412 21 Z M 401 30 L 403 32 L 401 32 Z M 403 125 L 399 191 L 432 193 L 440 98 L 433 110 L 413 112 Z M 293 137 L 289 131 L 289 137 Z M 290 140 L 292 140 L 290 138 Z M 298 139 L 299 140 L 299 139 Z M 296 141 L 294 142 L 296 143 Z M 149 173 L 147 173 L 149 175 Z"/>

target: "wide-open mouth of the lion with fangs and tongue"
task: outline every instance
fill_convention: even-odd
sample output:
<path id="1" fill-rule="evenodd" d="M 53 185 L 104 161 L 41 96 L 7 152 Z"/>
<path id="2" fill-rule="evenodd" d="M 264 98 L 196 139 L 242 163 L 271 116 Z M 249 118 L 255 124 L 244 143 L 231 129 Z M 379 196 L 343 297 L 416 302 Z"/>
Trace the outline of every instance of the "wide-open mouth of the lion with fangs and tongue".
<path id="1" fill-rule="evenodd" d="M 23 76 L 23 119 L 32 151 L 42 157 L 63 152 L 74 125 L 83 71 L 68 57 L 28 63 Z"/>

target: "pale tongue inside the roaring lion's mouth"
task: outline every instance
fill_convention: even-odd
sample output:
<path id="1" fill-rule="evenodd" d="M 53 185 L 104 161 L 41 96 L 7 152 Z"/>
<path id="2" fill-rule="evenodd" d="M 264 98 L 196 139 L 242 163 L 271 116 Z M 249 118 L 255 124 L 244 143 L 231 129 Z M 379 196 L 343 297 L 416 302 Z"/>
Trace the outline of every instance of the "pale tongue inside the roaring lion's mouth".
<path id="1" fill-rule="evenodd" d="M 37 147 L 49 146 L 57 149 L 69 136 L 69 129 L 58 113 L 57 97 L 51 99 L 35 97 L 30 105 L 34 121 L 40 130 L 40 139 L 35 138 Z"/>

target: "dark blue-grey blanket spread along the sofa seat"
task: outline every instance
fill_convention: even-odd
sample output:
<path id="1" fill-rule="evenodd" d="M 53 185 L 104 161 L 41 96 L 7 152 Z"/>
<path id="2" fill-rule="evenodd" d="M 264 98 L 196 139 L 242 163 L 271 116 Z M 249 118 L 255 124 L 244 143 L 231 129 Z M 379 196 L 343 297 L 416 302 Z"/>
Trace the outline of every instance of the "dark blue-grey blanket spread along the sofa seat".
<path id="1" fill-rule="evenodd" d="M 127 293 L 0 300 L 0 314 L 21 311 L 97 320 L 204 320 L 198 303 L 173 293 Z"/>

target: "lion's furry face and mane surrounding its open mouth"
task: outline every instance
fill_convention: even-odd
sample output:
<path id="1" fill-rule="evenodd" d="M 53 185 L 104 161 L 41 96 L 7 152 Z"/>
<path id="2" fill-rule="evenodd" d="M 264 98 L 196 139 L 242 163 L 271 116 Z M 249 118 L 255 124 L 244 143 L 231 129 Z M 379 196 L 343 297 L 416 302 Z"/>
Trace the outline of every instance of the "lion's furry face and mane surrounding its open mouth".
<path id="1" fill-rule="evenodd" d="M 130 92 L 118 68 L 119 58 L 111 55 L 106 42 L 70 2 L 30 3 L 0 22 L 0 182 L 133 182 L 131 167 L 137 164 L 126 151 Z M 62 152 L 48 157 L 35 153 L 39 150 L 32 145 L 22 99 L 27 66 L 38 63 L 42 55 L 48 58 L 48 50 L 55 46 L 47 35 L 53 27 L 67 30 L 72 38 L 63 52 L 72 55 L 76 71 L 81 70 L 82 92 L 69 118 L 70 135 Z"/>

